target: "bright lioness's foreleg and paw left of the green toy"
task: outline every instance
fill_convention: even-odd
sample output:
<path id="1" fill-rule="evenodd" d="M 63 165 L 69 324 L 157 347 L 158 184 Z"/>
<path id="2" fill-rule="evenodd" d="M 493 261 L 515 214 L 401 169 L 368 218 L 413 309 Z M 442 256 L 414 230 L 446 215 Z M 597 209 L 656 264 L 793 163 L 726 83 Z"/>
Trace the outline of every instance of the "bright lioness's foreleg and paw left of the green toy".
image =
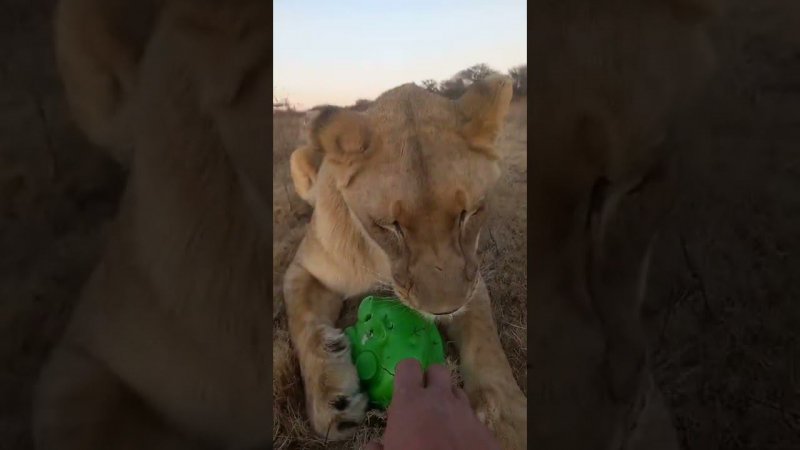
<path id="1" fill-rule="evenodd" d="M 283 286 L 309 419 L 320 435 L 343 439 L 355 431 L 367 406 L 367 398 L 359 392 L 350 343 L 334 326 L 343 299 L 297 263 L 287 269 Z"/>

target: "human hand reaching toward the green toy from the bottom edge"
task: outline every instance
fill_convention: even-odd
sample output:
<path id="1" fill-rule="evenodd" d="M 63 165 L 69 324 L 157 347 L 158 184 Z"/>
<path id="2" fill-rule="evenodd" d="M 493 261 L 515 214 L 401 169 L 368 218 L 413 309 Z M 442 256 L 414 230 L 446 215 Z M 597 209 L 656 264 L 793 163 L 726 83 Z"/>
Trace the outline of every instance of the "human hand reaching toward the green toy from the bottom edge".
<path id="1" fill-rule="evenodd" d="M 383 444 L 364 450 L 499 450 L 497 440 L 475 415 L 467 395 L 438 364 L 422 373 L 415 359 L 397 365 Z"/>

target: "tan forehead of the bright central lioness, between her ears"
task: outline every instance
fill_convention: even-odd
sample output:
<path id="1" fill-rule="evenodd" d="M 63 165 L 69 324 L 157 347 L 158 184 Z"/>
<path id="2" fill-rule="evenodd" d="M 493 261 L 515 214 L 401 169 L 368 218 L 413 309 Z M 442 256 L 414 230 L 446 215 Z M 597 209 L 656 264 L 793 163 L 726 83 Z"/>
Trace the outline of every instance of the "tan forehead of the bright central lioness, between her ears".
<path id="1" fill-rule="evenodd" d="M 419 210 L 469 207 L 499 176 L 496 162 L 469 148 L 445 97 L 406 84 L 378 97 L 366 115 L 381 145 L 363 186 L 382 199 Z"/>

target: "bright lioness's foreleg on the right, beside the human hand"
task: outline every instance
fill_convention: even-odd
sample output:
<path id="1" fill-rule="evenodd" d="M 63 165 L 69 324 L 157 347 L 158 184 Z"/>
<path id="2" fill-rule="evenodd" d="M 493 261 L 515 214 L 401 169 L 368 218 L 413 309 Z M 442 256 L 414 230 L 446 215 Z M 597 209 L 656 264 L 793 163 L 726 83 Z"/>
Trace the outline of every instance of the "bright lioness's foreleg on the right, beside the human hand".
<path id="1" fill-rule="evenodd" d="M 458 348 L 464 388 L 478 417 L 504 449 L 525 449 L 528 401 L 500 345 L 486 285 L 478 283 L 466 311 L 446 324 L 447 333 Z"/>

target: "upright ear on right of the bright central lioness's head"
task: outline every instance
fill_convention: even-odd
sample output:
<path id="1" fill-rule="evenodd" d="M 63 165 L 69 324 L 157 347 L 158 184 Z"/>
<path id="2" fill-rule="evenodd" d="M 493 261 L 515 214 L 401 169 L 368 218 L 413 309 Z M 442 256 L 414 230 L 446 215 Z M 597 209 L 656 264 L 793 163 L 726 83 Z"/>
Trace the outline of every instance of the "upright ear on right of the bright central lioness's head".
<path id="1" fill-rule="evenodd" d="M 473 83 L 457 100 L 465 124 L 462 134 L 480 151 L 496 158 L 494 141 L 500 132 L 513 94 L 511 77 L 492 75 Z"/>

